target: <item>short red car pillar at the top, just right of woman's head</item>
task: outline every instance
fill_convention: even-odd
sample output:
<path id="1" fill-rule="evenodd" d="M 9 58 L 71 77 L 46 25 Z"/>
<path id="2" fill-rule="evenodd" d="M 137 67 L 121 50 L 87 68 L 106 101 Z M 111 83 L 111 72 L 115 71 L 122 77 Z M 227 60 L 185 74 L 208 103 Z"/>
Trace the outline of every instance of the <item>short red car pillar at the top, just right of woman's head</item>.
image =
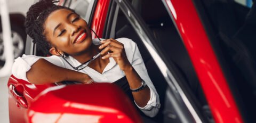
<path id="1" fill-rule="evenodd" d="M 99 0 L 94 11 L 91 29 L 94 30 L 100 38 L 102 37 L 103 29 L 105 26 L 109 2 L 109 0 Z M 92 38 L 96 38 L 93 33 Z"/>

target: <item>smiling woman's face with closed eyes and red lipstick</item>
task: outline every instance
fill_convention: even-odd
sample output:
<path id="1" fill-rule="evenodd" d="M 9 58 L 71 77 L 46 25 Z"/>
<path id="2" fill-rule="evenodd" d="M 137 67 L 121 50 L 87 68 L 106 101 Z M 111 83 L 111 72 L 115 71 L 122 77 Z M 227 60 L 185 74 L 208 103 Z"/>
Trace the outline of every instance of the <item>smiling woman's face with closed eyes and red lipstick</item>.
<path id="1" fill-rule="evenodd" d="M 69 55 L 86 52 L 92 44 L 86 21 L 67 9 L 52 12 L 44 23 L 44 29 L 44 35 L 52 46 Z"/>

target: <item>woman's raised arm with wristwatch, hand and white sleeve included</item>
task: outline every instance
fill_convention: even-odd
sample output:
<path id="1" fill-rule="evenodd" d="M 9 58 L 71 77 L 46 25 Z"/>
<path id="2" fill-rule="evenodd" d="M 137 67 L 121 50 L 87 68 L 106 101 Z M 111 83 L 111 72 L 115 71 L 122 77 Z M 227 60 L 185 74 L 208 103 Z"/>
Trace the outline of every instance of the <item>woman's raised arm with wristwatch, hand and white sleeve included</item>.
<path id="1" fill-rule="evenodd" d="M 138 46 L 128 38 L 119 38 L 117 40 L 108 39 L 102 41 L 103 45 L 100 48 L 106 47 L 106 51 L 103 50 L 102 52 L 103 59 L 109 57 L 115 59 L 119 67 L 124 71 L 131 89 L 140 87 L 142 79 L 145 80 L 147 86 L 141 91 L 133 92 L 132 94 L 138 108 L 147 116 L 154 117 L 159 111 L 161 104 L 156 89 L 148 76 Z"/>

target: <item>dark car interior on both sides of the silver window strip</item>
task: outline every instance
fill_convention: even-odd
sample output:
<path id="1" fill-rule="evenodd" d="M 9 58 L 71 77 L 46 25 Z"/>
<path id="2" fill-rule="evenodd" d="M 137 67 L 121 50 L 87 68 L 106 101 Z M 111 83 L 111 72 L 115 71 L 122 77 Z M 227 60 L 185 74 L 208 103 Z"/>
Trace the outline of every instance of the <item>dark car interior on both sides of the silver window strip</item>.
<path id="1" fill-rule="evenodd" d="M 199 85 L 199 80 L 196 76 L 189 55 L 177 32 L 177 28 L 175 28 L 162 1 L 140 0 L 131 1 L 131 4 L 133 5 L 134 10 L 140 14 L 142 19 L 147 24 L 147 27 L 151 31 L 151 35 L 154 36 L 156 44 L 161 47 L 161 50 L 164 52 L 166 58 L 169 60 L 169 62 L 172 62 L 175 65 L 175 73 L 185 80 L 185 83 L 188 85 L 190 91 L 196 97 L 197 105 L 200 107 L 201 111 L 204 111 L 208 119 L 212 120 L 210 109 L 207 106 L 207 102 L 205 100 L 202 88 Z M 166 114 L 164 105 L 167 83 L 138 34 L 135 32 L 123 12 L 119 10 L 116 21 L 115 38 L 121 37 L 130 38 L 137 43 L 143 61 L 145 62 L 149 77 L 157 89 L 161 102 L 161 110 L 154 119 L 159 122 L 177 121 L 172 118 L 164 117 Z"/>

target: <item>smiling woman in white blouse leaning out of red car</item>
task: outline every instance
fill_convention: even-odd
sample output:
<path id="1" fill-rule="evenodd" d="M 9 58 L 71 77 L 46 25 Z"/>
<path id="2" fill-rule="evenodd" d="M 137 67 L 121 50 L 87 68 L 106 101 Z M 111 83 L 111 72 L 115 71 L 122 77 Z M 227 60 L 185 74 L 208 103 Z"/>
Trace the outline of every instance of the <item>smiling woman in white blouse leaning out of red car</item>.
<path id="1" fill-rule="evenodd" d="M 13 75 L 32 84 L 116 83 L 125 79 L 138 108 L 154 117 L 160 107 L 159 97 L 137 45 L 127 38 L 92 39 L 85 20 L 74 10 L 53 3 L 43 0 L 32 5 L 25 22 L 26 32 L 38 48 L 52 56 L 23 55 L 15 60 Z"/>

